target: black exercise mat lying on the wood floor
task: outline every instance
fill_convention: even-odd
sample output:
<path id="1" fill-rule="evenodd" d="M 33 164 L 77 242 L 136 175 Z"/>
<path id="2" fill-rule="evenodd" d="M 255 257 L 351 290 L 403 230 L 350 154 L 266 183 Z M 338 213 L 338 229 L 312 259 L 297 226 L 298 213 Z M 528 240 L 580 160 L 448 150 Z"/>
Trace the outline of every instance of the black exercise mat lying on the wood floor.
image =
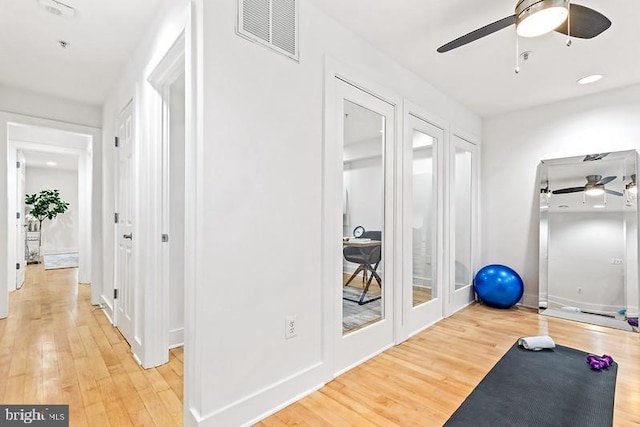
<path id="1" fill-rule="evenodd" d="M 564 346 L 530 351 L 516 343 L 445 426 L 611 426 L 618 365 L 594 371 L 586 356 Z"/>

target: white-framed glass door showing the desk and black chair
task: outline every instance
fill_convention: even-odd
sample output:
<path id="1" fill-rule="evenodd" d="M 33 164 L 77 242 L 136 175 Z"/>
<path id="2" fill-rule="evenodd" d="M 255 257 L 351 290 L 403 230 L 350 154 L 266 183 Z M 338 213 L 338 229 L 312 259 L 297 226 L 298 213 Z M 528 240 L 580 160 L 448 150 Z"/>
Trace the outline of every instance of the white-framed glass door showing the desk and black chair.
<path id="1" fill-rule="evenodd" d="M 343 202 L 332 231 L 339 374 L 394 344 L 396 145 L 393 105 L 339 78 L 333 83 L 337 134 L 328 161 Z"/>

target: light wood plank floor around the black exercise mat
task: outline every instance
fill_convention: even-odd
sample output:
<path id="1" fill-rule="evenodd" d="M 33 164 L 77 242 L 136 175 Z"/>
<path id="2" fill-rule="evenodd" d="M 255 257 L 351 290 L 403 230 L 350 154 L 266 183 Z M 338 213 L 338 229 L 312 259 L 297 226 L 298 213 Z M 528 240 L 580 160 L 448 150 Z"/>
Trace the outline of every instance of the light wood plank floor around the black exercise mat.
<path id="1" fill-rule="evenodd" d="M 640 425 L 640 334 L 473 305 L 258 423 L 272 426 L 439 426 L 522 336 L 619 363 L 614 425 Z M 586 365 L 586 362 L 585 362 Z"/>

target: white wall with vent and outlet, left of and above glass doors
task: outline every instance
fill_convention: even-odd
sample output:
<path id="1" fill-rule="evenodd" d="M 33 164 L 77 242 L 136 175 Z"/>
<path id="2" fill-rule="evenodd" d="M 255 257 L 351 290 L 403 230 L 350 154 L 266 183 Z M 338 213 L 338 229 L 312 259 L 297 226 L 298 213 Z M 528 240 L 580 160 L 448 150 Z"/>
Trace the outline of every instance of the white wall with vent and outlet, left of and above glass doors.
<path id="1" fill-rule="evenodd" d="M 197 3 L 201 252 L 197 355 L 187 354 L 186 364 L 197 364 L 193 411 L 202 425 L 239 425 L 328 379 L 319 269 L 325 55 L 452 126 L 479 135 L 481 121 L 310 2 L 300 2 L 299 63 L 238 37 L 235 0 Z M 288 314 L 298 315 L 291 340 Z"/>

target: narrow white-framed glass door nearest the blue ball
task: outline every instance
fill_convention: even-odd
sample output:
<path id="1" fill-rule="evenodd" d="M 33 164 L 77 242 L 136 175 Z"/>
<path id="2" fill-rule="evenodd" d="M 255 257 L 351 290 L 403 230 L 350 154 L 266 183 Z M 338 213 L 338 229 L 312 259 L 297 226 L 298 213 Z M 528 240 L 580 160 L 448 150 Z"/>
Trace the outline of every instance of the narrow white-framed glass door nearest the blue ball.
<path id="1" fill-rule="evenodd" d="M 474 144 L 453 136 L 450 156 L 450 264 L 448 313 L 473 300 L 475 246 L 477 236 L 477 149 Z"/>

